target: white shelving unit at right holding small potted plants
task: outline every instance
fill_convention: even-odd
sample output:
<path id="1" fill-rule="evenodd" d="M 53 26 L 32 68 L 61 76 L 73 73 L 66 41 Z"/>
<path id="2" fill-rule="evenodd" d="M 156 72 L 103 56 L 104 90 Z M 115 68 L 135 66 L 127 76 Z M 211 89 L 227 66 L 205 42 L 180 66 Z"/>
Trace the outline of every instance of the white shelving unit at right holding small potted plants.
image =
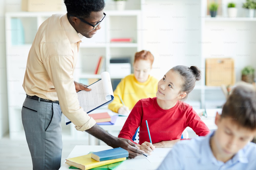
<path id="1" fill-rule="evenodd" d="M 238 16 L 228 17 L 226 6 L 228 1 L 223 1 L 222 16 L 210 17 L 206 15 L 206 2 L 201 1 L 205 11 L 202 17 L 202 66 L 205 67 L 206 58 L 233 58 L 236 82 L 241 81 L 241 70 L 247 65 L 256 68 L 256 18 L 244 17 L 245 12 L 240 5 L 243 1 L 236 1 Z M 205 76 L 204 76 L 205 78 Z M 204 80 L 205 82 L 205 80 Z M 201 101 L 206 109 L 217 108 L 225 103 L 226 98 L 219 86 L 202 86 L 204 100 Z M 221 104 L 222 103 L 222 104 Z"/>

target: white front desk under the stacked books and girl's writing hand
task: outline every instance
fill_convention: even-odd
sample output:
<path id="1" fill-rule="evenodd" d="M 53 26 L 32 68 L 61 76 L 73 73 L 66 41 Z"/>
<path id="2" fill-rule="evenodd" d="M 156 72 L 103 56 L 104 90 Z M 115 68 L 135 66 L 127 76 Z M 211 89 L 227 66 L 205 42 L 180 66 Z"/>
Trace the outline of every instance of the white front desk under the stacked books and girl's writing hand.
<path id="1" fill-rule="evenodd" d="M 110 146 L 82 146 L 77 145 L 69 154 L 68 158 L 73 158 L 76 156 L 86 155 L 89 152 L 97 152 L 102 150 L 111 149 Z M 164 160 L 167 153 L 171 150 L 171 148 L 156 148 L 152 155 L 148 155 L 146 158 L 143 155 L 139 155 L 134 159 L 127 159 L 122 162 L 115 170 L 123 170 L 123 169 L 133 169 L 133 170 L 141 170 L 141 169 L 156 169 L 161 162 Z M 70 165 L 63 163 L 59 170 L 70 170 Z"/>

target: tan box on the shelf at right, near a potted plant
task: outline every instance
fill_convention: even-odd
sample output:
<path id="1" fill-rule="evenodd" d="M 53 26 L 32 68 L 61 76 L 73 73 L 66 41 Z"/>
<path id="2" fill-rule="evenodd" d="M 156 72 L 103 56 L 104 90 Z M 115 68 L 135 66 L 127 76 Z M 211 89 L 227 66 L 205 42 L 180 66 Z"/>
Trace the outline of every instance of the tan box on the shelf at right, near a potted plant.
<path id="1" fill-rule="evenodd" d="M 207 58 L 205 67 L 206 86 L 227 86 L 235 83 L 235 68 L 232 58 Z"/>

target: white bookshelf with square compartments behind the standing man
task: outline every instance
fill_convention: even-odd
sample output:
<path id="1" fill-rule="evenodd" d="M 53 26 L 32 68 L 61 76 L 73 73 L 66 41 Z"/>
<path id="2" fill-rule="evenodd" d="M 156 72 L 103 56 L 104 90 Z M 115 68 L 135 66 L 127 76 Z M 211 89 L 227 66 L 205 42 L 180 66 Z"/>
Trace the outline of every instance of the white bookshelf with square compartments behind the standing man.
<path id="1" fill-rule="evenodd" d="M 90 39 L 82 38 L 82 43 L 79 47 L 79 59 L 74 73 L 75 81 L 100 79 L 100 74 L 94 74 L 100 56 L 105 58 L 103 72 L 108 71 L 110 58 L 129 56 L 132 61 L 136 51 L 141 50 L 141 36 L 138 32 L 141 28 L 141 3 L 137 2 L 134 5 L 136 2 L 129 2 L 130 4 L 127 3 L 126 10 L 117 11 L 114 5 L 111 4 L 114 2 L 106 1 L 106 7 L 104 9 L 106 17 L 101 23 L 101 29 Z M 31 44 L 41 23 L 52 14 L 58 13 L 65 14 L 66 12 L 7 12 L 5 15 L 9 136 L 11 139 L 25 139 L 21 109 L 26 93 L 22 87 L 22 83 Z M 18 20 L 16 22 L 19 22 L 21 27 L 18 28 L 14 25 L 15 20 Z M 116 34 L 115 30 L 120 31 Z M 24 35 L 24 39 L 20 38 L 20 41 L 19 36 L 15 36 L 17 34 Z M 111 38 L 118 37 L 133 38 L 134 42 L 110 42 Z M 122 77 L 112 78 L 121 79 Z M 90 82 L 89 84 L 92 83 Z M 63 139 L 88 139 L 87 133 L 77 131 L 72 123 L 65 125 L 64 120 L 63 116 Z"/>

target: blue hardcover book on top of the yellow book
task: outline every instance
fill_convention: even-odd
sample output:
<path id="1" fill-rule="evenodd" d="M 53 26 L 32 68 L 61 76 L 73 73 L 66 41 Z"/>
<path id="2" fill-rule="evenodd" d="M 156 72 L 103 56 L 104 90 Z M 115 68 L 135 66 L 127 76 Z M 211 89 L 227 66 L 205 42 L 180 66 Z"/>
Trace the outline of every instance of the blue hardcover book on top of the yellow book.
<path id="1" fill-rule="evenodd" d="M 99 152 L 93 152 L 91 158 L 96 161 L 106 161 L 111 159 L 126 158 L 129 156 L 127 150 L 123 148 L 108 149 Z"/>

